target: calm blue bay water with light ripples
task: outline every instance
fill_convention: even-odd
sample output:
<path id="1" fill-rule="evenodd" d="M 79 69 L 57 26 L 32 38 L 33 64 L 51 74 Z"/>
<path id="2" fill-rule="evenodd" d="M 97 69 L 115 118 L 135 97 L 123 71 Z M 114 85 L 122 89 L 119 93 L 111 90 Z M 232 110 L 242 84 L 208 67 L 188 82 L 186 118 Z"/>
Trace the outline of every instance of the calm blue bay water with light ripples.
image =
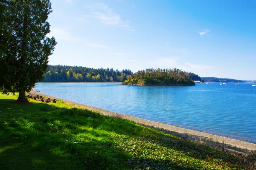
<path id="1" fill-rule="evenodd" d="M 37 84 L 35 90 L 108 111 L 256 143 L 256 87 L 247 83 L 145 87 Z"/>

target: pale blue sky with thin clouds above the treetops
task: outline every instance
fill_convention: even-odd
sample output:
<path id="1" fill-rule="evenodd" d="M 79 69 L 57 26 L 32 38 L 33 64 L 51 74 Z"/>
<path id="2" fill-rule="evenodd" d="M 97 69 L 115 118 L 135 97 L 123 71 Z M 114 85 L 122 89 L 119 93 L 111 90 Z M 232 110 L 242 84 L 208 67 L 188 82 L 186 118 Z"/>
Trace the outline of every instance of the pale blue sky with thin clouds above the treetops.
<path id="1" fill-rule="evenodd" d="M 51 2 L 51 65 L 256 80 L 256 0 Z"/>

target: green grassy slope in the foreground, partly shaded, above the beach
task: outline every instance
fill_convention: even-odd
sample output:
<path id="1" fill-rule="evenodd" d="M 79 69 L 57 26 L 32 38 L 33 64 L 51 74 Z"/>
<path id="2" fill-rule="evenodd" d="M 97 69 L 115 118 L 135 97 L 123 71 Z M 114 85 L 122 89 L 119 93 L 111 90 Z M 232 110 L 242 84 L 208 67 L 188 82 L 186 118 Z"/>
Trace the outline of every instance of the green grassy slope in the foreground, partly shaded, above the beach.
<path id="1" fill-rule="evenodd" d="M 16 104 L 0 94 L 0 167 L 4 170 L 242 170 L 236 156 L 134 122 L 62 102 Z"/>

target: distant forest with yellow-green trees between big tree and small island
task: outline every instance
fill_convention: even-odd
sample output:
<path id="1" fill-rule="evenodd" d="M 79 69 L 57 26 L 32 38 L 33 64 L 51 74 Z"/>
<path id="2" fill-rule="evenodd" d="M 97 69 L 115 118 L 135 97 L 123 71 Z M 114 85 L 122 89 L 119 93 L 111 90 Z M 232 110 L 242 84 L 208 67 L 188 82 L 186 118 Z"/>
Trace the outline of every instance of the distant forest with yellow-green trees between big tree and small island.
<path id="1" fill-rule="evenodd" d="M 41 82 L 123 82 L 132 74 L 129 69 L 119 71 L 113 68 L 48 65 Z"/>

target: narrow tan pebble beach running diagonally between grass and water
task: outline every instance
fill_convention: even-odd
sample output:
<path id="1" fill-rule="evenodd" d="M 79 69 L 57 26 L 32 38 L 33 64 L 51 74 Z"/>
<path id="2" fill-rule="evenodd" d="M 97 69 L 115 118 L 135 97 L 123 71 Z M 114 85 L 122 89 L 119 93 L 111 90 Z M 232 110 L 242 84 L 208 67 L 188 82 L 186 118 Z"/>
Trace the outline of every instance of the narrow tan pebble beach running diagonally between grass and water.
<path id="1" fill-rule="evenodd" d="M 36 93 L 36 94 L 41 94 L 41 95 L 51 97 L 51 98 L 54 97 L 54 96 L 49 96 L 47 94 L 38 93 L 38 92 L 34 91 L 34 89 L 32 89 L 31 92 Z M 88 109 L 88 110 L 91 110 L 91 111 L 100 112 L 105 116 L 131 120 L 131 121 L 134 121 L 135 123 L 137 123 L 139 125 L 143 125 L 145 127 L 150 127 L 150 128 L 154 128 L 154 129 L 157 129 L 157 130 L 159 130 L 159 129 L 166 130 L 166 131 L 169 131 L 169 132 L 180 133 L 180 134 L 183 134 L 183 135 L 192 135 L 192 136 L 198 137 L 200 139 L 202 137 L 204 139 L 209 139 L 209 140 L 212 140 L 214 142 L 228 144 L 230 146 L 238 147 L 238 148 L 241 148 L 241 149 L 256 150 L 256 144 L 254 144 L 254 143 L 244 142 L 244 141 L 240 141 L 240 140 L 237 140 L 237 139 L 231 139 L 231 138 L 218 136 L 218 135 L 213 135 L 213 134 L 210 134 L 210 133 L 200 132 L 200 131 L 196 131 L 196 130 L 185 129 L 183 127 L 177 127 L 177 126 L 173 126 L 173 125 L 166 125 L 166 124 L 163 124 L 163 123 L 160 123 L 160 122 L 154 122 L 154 121 L 150 121 L 150 120 L 147 120 L 147 119 L 142 119 L 142 118 L 138 118 L 138 117 L 122 114 L 122 113 L 107 111 L 107 110 L 104 110 L 104 109 L 101 109 L 101 108 L 96 108 L 96 107 L 89 106 L 89 105 L 83 105 L 83 104 L 80 104 L 80 103 L 71 102 L 71 101 L 61 99 L 61 98 L 58 98 L 58 97 L 54 97 L 54 98 L 59 99 L 62 102 L 65 102 L 69 105 L 73 104 L 75 106 L 79 106 L 81 108 L 85 108 L 85 109 Z"/>

